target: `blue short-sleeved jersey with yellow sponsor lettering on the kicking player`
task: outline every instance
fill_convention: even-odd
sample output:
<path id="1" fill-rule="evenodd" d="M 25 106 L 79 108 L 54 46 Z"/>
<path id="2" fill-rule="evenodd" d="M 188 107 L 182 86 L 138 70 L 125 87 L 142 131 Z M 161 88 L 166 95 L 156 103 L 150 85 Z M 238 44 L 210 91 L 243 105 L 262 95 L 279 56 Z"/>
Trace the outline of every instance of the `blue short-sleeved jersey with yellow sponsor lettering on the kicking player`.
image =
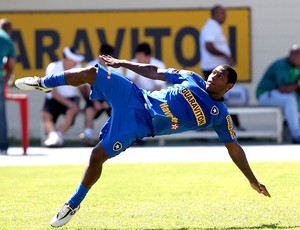
<path id="1" fill-rule="evenodd" d="M 168 69 L 166 80 L 174 84 L 146 92 L 147 109 L 153 117 L 154 135 L 212 128 L 223 143 L 236 141 L 232 120 L 223 101 L 212 99 L 198 74 Z"/>

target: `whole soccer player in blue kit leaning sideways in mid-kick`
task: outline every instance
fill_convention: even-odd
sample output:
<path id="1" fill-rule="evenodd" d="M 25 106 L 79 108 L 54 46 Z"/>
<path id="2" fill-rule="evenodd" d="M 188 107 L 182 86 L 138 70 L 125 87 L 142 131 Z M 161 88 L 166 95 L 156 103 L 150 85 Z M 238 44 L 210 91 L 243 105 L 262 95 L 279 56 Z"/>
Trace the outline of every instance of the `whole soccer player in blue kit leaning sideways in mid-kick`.
<path id="1" fill-rule="evenodd" d="M 91 85 L 90 98 L 105 100 L 112 116 L 103 126 L 99 143 L 93 148 L 89 164 L 74 194 L 51 220 L 51 226 L 62 226 L 79 210 L 80 203 L 101 176 L 103 163 L 146 136 L 165 135 L 187 130 L 213 128 L 230 157 L 258 193 L 270 197 L 266 187 L 253 174 L 242 147 L 237 142 L 232 120 L 223 102 L 237 73 L 229 65 L 216 67 L 204 81 L 198 74 L 177 69 L 158 69 L 151 64 L 134 63 L 100 55 L 106 66 L 124 67 L 154 80 L 174 84 L 160 91 L 148 92 L 124 76 L 101 65 L 67 70 L 59 74 L 16 80 L 22 90 L 49 92 L 61 85 Z"/>

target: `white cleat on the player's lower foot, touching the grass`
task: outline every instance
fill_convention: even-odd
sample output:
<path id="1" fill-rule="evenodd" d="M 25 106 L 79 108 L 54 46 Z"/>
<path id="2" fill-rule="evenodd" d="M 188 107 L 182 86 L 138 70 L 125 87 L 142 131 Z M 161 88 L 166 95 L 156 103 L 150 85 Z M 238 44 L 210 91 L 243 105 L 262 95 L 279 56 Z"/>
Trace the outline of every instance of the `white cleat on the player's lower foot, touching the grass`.
<path id="1" fill-rule="evenodd" d="M 65 203 L 61 210 L 52 218 L 51 226 L 61 227 L 67 224 L 79 209 L 80 206 L 73 209 L 69 204 Z"/>

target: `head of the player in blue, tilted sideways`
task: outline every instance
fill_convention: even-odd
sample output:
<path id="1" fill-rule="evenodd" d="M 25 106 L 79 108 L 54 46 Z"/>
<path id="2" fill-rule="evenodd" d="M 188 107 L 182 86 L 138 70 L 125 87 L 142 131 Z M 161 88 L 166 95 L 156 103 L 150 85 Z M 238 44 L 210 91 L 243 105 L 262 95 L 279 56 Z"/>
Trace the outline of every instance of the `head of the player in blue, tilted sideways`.
<path id="1" fill-rule="evenodd" d="M 237 81 L 237 73 L 230 65 L 219 65 L 208 76 L 206 91 L 213 98 L 221 98 Z"/>

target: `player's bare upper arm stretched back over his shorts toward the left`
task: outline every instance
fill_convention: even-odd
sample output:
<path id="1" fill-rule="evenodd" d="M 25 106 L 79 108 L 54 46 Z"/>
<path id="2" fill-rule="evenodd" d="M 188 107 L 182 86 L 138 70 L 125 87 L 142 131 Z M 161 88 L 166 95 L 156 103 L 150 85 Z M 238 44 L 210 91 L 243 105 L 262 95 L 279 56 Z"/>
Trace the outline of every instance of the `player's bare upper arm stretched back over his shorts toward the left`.
<path id="1" fill-rule="evenodd" d="M 165 78 L 166 70 L 159 69 L 155 65 L 136 63 L 127 60 L 120 60 L 120 59 L 113 58 L 109 55 L 100 55 L 99 57 L 105 62 L 106 66 L 111 66 L 114 68 L 124 67 L 146 78 L 166 81 Z"/>

